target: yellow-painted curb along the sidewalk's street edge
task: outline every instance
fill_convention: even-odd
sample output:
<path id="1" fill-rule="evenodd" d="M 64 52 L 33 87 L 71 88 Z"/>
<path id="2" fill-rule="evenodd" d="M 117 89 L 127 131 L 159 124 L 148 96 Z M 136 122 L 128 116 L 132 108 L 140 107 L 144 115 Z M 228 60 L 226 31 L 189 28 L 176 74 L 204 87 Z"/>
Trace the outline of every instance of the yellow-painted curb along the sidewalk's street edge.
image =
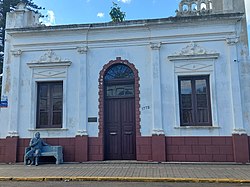
<path id="1" fill-rule="evenodd" d="M 0 181 L 116 181 L 116 182 L 193 182 L 193 183 L 250 183 L 250 180 L 214 178 L 150 178 L 150 177 L 0 177 Z"/>

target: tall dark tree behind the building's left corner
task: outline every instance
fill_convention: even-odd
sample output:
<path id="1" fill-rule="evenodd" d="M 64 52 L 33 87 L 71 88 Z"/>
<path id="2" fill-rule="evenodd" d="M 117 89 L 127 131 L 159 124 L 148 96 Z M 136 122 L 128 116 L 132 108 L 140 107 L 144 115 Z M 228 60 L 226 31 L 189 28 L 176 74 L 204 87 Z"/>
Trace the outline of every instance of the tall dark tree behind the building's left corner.
<path id="1" fill-rule="evenodd" d="M 3 72 L 3 58 L 4 58 L 4 40 L 5 40 L 5 24 L 7 12 L 15 10 L 18 3 L 23 2 L 27 5 L 27 8 L 38 12 L 43 9 L 36 5 L 33 0 L 0 0 L 0 75 Z M 0 76 L 0 98 L 2 89 L 2 77 Z"/>

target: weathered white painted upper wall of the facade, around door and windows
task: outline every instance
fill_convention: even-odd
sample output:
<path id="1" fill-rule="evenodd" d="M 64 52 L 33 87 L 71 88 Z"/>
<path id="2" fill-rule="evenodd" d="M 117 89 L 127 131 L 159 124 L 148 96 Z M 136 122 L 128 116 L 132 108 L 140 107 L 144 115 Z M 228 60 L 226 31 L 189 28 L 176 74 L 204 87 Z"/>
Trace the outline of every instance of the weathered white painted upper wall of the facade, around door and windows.
<path id="1" fill-rule="evenodd" d="M 99 73 L 105 64 L 116 57 L 127 59 L 139 71 L 143 136 L 151 136 L 152 132 L 164 132 L 166 136 L 231 136 L 235 129 L 249 134 L 250 102 L 246 93 L 249 86 L 247 89 L 242 88 L 245 83 L 240 83 L 240 75 L 237 74 L 239 63 L 234 61 L 244 59 L 237 50 L 240 44 L 234 43 L 239 29 L 235 24 L 239 23 L 233 18 L 206 20 L 206 23 L 204 20 L 155 20 L 150 24 L 129 22 L 124 26 L 96 24 L 91 27 L 78 25 L 7 30 L 2 94 L 8 96 L 9 107 L 0 109 L 0 137 L 19 135 L 26 138 L 33 136 L 37 130 L 43 137 L 75 137 L 79 133 L 98 136 L 98 122 L 88 123 L 87 118 L 98 117 Z M 177 53 L 180 57 L 182 50 L 192 42 L 205 50 L 203 56 L 210 54 L 210 57 L 197 60 L 192 57 L 199 54 L 192 54 L 189 60 L 170 60 L 169 56 L 178 56 Z M 153 102 L 152 44 L 159 44 L 160 47 L 162 116 L 155 116 L 156 120 L 153 119 L 153 109 L 157 108 L 154 108 Z M 41 68 L 41 57 L 50 50 L 55 53 L 54 60 L 60 58 L 58 63 L 61 66 Z M 218 57 L 211 58 L 211 54 L 218 54 Z M 66 62 L 71 64 L 65 65 Z M 29 67 L 32 63 L 38 65 Z M 197 63 L 203 68 L 178 69 Z M 245 62 L 245 66 L 249 66 L 248 62 Z M 243 74 L 245 82 L 250 79 L 249 69 Z M 46 75 L 41 70 L 45 70 Z M 60 75 L 53 77 L 48 74 L 55 71 Z M 19 72 L 19 79 L 14 80 L 13 73 L 16 72 Z M 178 75 L 203 74 L 210 75 L 213 126 L 180 128 Z M 53 80 L 63 80 L 64 83 L 63 128 L 35 129 L 36 82 Z M 237 86 L 242 89 L 235 90 Z M 13 93 L 12 89 L 19 91 Z M 245 100 L 247 106 L 244 105 Z M 12 123 L 15 121 L 16 124 Z M 153 124 L 155 121 L 162 121 L 162 124 Z"/>

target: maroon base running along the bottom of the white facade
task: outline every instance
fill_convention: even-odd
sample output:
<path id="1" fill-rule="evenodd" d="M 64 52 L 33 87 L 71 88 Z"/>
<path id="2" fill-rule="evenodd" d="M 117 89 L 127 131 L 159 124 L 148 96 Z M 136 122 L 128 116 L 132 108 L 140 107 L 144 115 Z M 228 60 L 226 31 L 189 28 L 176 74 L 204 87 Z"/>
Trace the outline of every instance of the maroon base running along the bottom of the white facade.
<path id="1" fill-rule="evenodd" d="M 104 160 L 103 138 L 44 138 L 50 145 L 63 146 L 64 162 Z M 0 139 L 0 162 L 23 162 L 24 148 L 30 139 L 7 137 Z M 138 161 L 157 162 L 249 162 L 250 137 L 165 137 L 136 138 Z"/>

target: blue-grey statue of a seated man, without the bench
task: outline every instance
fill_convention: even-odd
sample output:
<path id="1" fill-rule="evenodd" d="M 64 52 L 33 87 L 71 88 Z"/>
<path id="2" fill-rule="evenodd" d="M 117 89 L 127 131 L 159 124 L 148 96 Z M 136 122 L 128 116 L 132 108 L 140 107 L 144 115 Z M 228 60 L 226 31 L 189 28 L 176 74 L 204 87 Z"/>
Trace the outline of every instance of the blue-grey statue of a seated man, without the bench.
<path id="1" fill-rule="evenodd" d="M 48 146 L 48 144 L 45 143 L 42 138 L 40 138 L 40 133 L 37 132 L 35 137 L 30 140 L 28 151 L 25 154 L 25 159 L 27 161 L 26 163 L 29 163 L 29 165 L 35 164 L 38 166 L 38 161 L 39 157 L 41 156 L 43 146 Z"/>

